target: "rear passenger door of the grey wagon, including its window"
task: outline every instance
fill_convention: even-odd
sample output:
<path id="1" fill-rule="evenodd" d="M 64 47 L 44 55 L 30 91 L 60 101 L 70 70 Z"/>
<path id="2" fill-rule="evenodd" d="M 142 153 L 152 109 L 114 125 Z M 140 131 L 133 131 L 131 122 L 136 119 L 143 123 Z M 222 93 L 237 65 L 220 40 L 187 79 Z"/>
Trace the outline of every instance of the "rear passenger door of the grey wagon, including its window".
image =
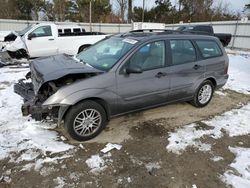
<path id="1" fill-rule="evenodd" d="M 194 94 L 194 86 L 204 78 L 205 62 L 199 61 L 194 43 L 187 39 L 169 40 L 171 54 L 171 91 L 169 98 L 179 100 Z"/>

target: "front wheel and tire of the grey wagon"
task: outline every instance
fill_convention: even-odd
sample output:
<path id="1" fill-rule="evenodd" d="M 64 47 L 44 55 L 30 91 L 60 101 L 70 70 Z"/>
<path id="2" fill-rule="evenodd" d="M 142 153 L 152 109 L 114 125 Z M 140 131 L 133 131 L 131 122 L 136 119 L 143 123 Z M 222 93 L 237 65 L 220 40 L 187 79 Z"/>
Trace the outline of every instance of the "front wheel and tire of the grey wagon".
<path id="1" fill-rule="evenodd" d="M 72 106 L 64 119 L 66 131 L 78 141 L 86 141 L 96 137 L 106 124 L 107 115 L 104 108 L 91 100 Z"/>

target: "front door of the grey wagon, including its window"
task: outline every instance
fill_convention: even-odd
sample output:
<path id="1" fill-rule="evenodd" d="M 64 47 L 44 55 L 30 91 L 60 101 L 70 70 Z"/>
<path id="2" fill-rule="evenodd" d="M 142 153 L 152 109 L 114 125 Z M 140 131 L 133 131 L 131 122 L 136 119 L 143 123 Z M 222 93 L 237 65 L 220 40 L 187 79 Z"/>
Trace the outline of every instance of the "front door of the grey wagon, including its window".
<path id="1" fill-rule="evenodd" d="M 170 89 L 164 41 L 151 42 L 135 52 L 117 72 L 118 113 L 167 101 Z M 126 68 L 141 73 L 126 73 Z"/>

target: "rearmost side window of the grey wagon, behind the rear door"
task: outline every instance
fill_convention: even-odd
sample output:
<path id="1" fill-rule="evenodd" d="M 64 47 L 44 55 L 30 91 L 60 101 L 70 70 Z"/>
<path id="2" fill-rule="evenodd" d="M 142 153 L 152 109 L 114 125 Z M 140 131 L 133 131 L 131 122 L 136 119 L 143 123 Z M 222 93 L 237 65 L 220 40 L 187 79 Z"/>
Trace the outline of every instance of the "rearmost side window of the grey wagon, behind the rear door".
<path id="1" fill-rule="evenodd" d="M 204 58 L 212 58 L 222 55 L 222 51 L 215 41 L 197 40 L 196 44 Z"/>

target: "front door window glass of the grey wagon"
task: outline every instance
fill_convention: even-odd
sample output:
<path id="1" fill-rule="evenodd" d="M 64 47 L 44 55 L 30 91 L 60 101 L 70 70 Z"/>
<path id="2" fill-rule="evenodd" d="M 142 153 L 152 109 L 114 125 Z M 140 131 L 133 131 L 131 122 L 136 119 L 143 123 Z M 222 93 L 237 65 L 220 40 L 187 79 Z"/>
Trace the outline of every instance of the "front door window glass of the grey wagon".
<path id="1" fill-rule="evenodd" d="M 165 43 L 156 41 L 141 47 L 128 61 L 128 67 L 140 67 L 143 71 L 165 65 Z"/>

